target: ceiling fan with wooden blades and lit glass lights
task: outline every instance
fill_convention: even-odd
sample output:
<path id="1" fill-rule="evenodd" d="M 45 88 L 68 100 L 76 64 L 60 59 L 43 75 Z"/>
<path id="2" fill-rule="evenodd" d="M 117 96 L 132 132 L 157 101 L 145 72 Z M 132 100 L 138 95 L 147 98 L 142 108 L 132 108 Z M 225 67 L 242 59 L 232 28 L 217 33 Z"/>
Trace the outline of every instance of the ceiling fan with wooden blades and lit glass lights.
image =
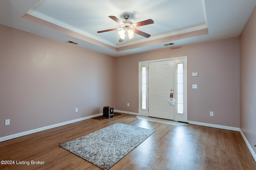
<path id="1" fill-rule="evenodd" d="M 141 35 L 143 37 L 146 37 L 146 38 L 150 37 L 150 34 L 144 33 L 138 29 L 135 29 L 134 27 L 140 27 L 143 25 L 148 25 L 148 24 L 154 23 L 154 21 L 151 19 L 132 23 L 131 21 L 128 21 L 128 19 L 130 18 L 130 16 L 128 14 L 124 15 L 125 21 L 119 20 L 116 16 L 108 16 L 108 17 L 111 18 L 112 20 L 116 21 L 117 23 L 119 23 L 120 28 L 106 29 L 106 30 L 102 30 L 102 31 L 97 31 L 97 33 L 119 30 L 118 31 L 118 34 L 120 37 L 119 42 L 123 42 L 124 39 L 126 39 L 126 40 L 132 39 L 134 37 L 134 33 Z"/>

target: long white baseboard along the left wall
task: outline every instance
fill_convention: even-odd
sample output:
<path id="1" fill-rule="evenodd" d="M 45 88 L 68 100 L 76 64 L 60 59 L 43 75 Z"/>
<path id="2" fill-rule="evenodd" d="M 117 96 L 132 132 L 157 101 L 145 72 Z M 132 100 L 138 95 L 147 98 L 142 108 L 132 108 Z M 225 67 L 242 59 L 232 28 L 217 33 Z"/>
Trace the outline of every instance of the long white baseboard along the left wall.
<path id="1" fill-rule="evenodd" d="M 17 137 L 22 137 L 22 136 L 29 135 L 29 134 L 32 134 L 32 133 L 44 131 L 44 130 L 47 130 L 47 129 L 52 129 L 54 127 L 59 127 L 59 126 L 67 125 L 67 124 L 70 124 L 70 123 L 75 123 L 75 122 L 78 122 L 78 121 L 90 119 L 90 118 L 101 116 L 101 115 L 103 115 L 103 113 L 99 113 L 99 114 L 91 115 L 91 116 L 87 116 L 87 117 L 82 117 L 82 118 L 74 119 L 74 120 L 70 120 L 70 121 L 65 121 L 65 122 L 62 122 L 62 123 L 57 123 L 57 124 L 49 125 L 49 126 L 45 126 L 45 127 L 40 127 L 38 129 L 33 129 L 33 130 L 30 130 L 30 131 L 25 131 L 25 132 L 21 132 L 21 133 L 16 133 L 16 134 L 5 136 L 5 137 L 0 137 L 0 142 L 7 141 L 7 140 L 10 140 L 10 139 L 14 139 L 14 138 L 17 138 Z"/>

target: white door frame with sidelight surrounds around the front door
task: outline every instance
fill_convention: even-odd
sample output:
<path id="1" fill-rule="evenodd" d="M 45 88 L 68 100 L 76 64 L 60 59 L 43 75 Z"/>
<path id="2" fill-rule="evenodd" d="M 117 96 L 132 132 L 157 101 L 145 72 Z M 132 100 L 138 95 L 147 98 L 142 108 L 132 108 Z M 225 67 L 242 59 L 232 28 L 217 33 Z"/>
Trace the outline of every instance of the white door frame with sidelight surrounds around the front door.
<path id="1" fill-rule="evenodd" d="M 158 61 L 168 61 L 168 60 L 174 60 L 174 93 L 177 94 L 177 76 L 176 76 L 176 70 L 177 70 L 177 64 L 178 63 L 184 63 L 184 96 L 183 96 L 183 114 L 178 113 L 177 104 L 174 105 L 174 121 L 188 121 L 188 76 L 187 76 L 187 70 L 188 70 L 188 64 L 187 64 L 187 56 L 183 57 L 173 57 L 168 59 L 158 59 L 158 60 L 151 60 L 151 61 L 141 61 L 139 62 L 139 115 L 141 116 L 147 116 L 148 117 L 148 63 L 151 62 L 158 62 Z M 142 109 L 142 67 L 146 67 L 146 109 Z M 177 101 L 177 95 L 174 95 L 174 99 Z"/>

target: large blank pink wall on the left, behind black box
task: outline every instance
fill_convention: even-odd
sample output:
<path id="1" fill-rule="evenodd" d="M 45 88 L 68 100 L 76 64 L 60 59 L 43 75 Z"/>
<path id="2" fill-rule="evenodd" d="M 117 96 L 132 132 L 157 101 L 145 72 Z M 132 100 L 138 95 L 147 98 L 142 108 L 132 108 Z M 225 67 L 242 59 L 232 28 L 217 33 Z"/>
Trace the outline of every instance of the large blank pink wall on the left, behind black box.
<path id="1" fill-rule="evenodd" d="M 0 37 L 0 137 L 115 107 L 114 57 L 4 25 Z"/>

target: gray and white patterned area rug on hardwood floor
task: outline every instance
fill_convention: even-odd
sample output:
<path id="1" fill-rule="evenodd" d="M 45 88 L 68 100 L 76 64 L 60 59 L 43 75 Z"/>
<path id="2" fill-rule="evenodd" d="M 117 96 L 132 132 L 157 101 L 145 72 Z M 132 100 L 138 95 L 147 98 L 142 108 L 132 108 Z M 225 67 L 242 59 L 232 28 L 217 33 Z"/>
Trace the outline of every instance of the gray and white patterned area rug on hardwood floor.
<path id="1" fill-rule="evenodd" d="M 115 123 L 72 141 L 60 143 L 60 147 L 102 170 L 108 170 L 152 133 L 154 130 Z"/>

